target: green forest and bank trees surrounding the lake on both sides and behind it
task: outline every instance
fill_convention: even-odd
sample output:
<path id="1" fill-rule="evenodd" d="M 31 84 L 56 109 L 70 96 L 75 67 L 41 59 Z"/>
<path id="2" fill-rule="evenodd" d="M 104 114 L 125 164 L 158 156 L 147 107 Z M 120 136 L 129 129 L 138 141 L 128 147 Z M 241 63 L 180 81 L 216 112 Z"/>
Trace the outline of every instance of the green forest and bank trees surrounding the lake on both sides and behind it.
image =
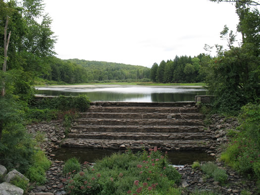
<path id="1" fill-rule="evenodd" d="M 238 117 L 240 122 L 238 128 L 227 133 L 230 142 L 222 148 L 222 160 L 260 185 L 260 12 L 256 8 L 260 4 L 253 0 L 210 1 L 234 3 L 239 17 L 236 30 L 242 40 L 235 44 L 236 35 L 225 26 L 220 38 L 226 40 L 228 48 L 216 44 L 217 56 L 176 56 L 154 63 L 150 69 L 59 59 L 54 56 L 57 39 L 51 30 L 52 19 L 44 14 L 43 0 L 0 0 L 0 164 L 9 170 L 18 169 L 31 181 L 40 174 L 44 182 L 50 162 L 25 125 L 32 122 L 32 117 L 73 119 L 66 115 L 69 109 L 89 103 L 87 97 L 61 97 L 35 108 L 34 85 L 39 80 L 58 84 L 150 79 L 156 83 L 205 81 L 208 92 L 214 95 L 210 104 L 202 105 L 208 121 L 213 114 L 220 114 Z"/>

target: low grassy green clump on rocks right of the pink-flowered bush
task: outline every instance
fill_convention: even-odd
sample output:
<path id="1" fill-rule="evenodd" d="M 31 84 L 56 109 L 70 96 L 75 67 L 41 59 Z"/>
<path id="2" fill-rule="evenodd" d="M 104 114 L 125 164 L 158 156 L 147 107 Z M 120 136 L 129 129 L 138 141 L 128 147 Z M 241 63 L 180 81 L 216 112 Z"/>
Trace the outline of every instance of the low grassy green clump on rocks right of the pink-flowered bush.
<path id="1" fill-rule="evenodd" d="M 222 184 L 228 178 L 226 171 L 223 169 L 219 169 L 217 167 L 217 165 L 215 165 L 212 162 L 203 164 L 201 168 L 202 168 L 202 171 L 205 172 L 208 176 L 213 177 L 215 181 L 218 181 Z"/>

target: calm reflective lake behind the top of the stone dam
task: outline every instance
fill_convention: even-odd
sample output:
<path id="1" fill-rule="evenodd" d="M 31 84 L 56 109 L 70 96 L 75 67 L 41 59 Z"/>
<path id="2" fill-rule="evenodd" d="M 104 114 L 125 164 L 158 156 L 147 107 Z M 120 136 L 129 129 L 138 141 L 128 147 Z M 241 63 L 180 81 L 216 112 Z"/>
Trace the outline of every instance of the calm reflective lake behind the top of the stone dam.
<path id="1" fill-rule="evenodd" d="M 87 95 L 91 101 L 175 102 L 194 101 L 195 96 L 206 95 L 199 87 L 157 87 L 121 85 L 85 85 L 36 87 L 37 94 L 48 96 Z"/>

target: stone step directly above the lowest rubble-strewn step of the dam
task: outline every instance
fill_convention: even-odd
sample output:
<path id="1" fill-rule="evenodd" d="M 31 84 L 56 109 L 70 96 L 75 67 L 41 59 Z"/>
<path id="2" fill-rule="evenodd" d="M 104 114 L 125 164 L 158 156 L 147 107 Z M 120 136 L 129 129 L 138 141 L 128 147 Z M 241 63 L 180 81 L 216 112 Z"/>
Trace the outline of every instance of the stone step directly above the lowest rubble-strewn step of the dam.
<path id="1" fill-rule="evenodd" d="M 70 133 L 68 138 L 109 140 L 206 140 L 209 133 L 136 133 L 136 132 L 82 132 Z"/>

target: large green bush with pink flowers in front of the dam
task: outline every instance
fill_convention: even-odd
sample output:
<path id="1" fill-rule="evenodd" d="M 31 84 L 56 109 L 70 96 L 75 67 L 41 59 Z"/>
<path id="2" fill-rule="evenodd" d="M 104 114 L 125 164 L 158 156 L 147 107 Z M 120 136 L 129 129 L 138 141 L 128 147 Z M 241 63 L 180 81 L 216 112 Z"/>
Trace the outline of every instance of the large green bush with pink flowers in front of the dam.
<path id="1" fill-rule="evenodd" d="M 158 148 L 159 149 L 159 148 Z M 114 153 L 68 178 L 67 192 L 72 195 L 171 194 L 180 182 L 178 171 L 155 147 L 133 154 Z"/>

